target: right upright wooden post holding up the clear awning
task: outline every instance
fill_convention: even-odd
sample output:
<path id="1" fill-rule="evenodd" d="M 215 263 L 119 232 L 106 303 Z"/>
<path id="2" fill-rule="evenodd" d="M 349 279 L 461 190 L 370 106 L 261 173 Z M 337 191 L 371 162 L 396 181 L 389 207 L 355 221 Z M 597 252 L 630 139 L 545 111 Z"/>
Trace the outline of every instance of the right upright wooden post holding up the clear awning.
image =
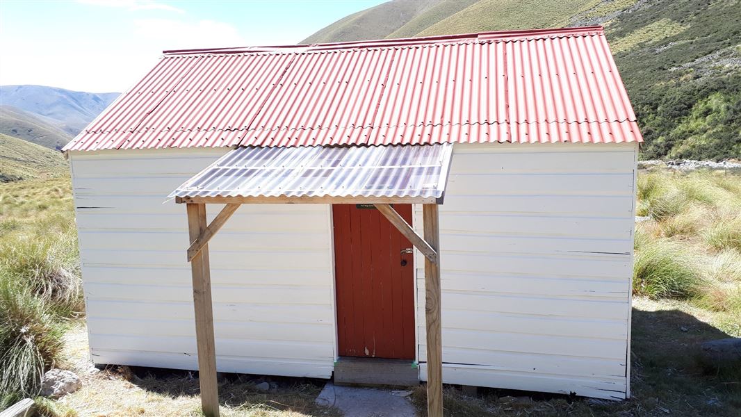
<path id="1" fill-rule="evenodd" d="M 423 204 L 425 241 L 437 263 L 425 258 L 425 321 L 427 324 L 427 414 L 442 417 L 442 324 L 440 321 L 440 228 L 437 204 Z"/>

